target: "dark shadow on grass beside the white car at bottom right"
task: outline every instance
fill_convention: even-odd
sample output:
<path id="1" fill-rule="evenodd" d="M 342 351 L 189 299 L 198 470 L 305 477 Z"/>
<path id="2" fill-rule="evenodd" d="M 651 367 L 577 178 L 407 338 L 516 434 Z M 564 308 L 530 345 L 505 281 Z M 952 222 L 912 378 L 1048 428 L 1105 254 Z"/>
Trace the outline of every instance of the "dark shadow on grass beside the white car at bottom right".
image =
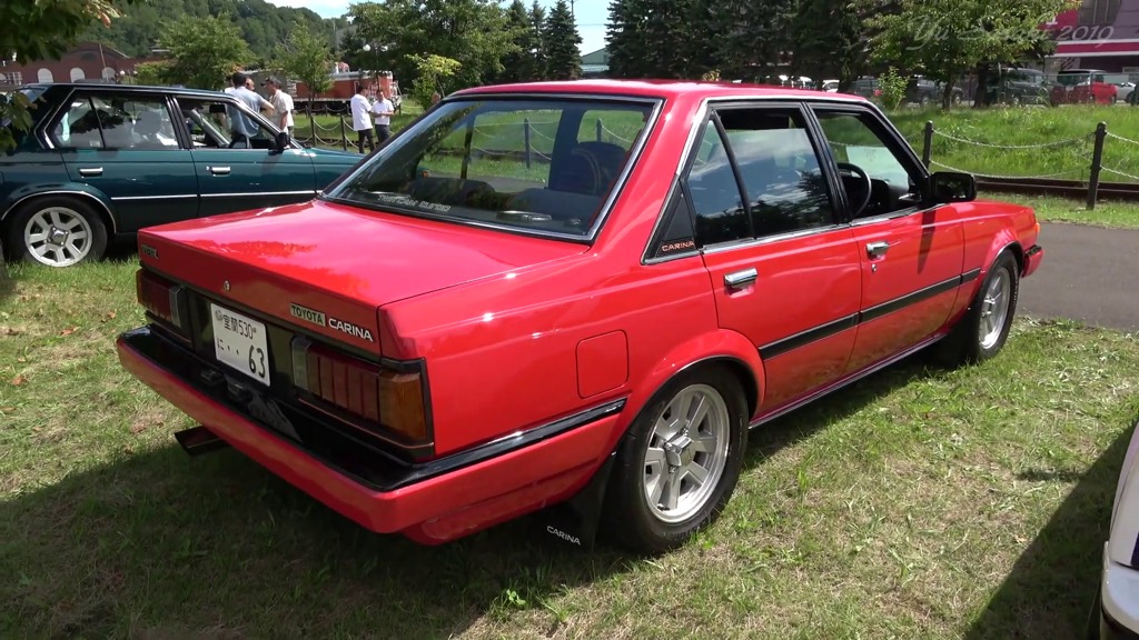
<path id="1" fill-rule="evenodd" d="M 1077 484 L 1016 560 L 967 640 L 1084 638 L 1099 588 L 1115 485 L 1133 428 L 1121 429 L 1087 473 L 1075 474 Z M 1072 476 L 1063 470 L 1029 470 L 1021 479 L 1067 482 Z"/>

